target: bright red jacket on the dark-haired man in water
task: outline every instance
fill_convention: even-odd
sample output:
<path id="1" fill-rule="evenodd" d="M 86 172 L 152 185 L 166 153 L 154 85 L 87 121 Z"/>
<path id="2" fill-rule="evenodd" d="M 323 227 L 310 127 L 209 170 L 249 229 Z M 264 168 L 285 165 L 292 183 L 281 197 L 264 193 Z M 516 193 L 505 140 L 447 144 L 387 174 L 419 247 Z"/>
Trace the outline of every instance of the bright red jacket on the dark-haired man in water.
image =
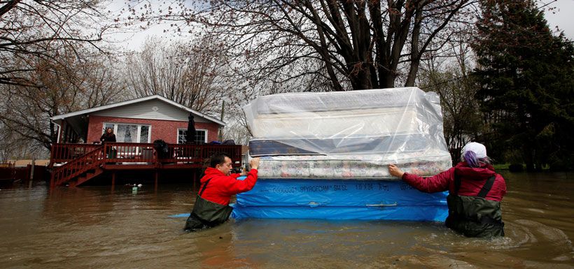
<path id="1" fill-rule="evenodd" d="M 220 170 L 208 167 L 205 169 L 204 177 L 202 177 L 200 191 L 202 191 L 205 182 L 211 180 L 207 184 L 202 198 L 220 205 L 229 205 L 232 195 L 250 191 L 257 182 L 256 169 L 249 170 L 245 180 L 237 180 L 239 176 L 239 174 L 224 175 Z"/>

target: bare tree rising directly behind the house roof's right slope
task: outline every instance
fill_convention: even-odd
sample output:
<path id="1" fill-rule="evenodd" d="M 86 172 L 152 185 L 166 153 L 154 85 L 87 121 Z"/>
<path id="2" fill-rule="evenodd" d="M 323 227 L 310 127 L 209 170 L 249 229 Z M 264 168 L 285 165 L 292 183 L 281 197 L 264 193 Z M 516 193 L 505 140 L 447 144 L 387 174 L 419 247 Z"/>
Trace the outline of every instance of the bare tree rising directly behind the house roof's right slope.
<path id="1" fill-rule="evenodd" d="M 218 115 L 221 101 L 233 87 L 224 78 L 225 58 L 211 50 L 216 41 L 202 38 L 186 43 L 148 40 L 128 57 L 127 87 L 137 97 L 159 94 L 194 110 Z"/>

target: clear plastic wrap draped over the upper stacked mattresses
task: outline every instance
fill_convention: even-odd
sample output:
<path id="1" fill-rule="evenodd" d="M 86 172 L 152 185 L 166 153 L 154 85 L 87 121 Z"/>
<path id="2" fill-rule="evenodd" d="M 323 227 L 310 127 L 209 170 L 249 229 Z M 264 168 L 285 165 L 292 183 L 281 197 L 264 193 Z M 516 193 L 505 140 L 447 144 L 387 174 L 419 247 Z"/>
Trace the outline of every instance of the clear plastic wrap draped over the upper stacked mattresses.
<path id="1" fill-rule="evenodd" d="M 388 163 L 418 175 L 451 167 L 440 99 L 416 87 L 274 94 L 244 111 L 260 177 L 391 178 Z"/>

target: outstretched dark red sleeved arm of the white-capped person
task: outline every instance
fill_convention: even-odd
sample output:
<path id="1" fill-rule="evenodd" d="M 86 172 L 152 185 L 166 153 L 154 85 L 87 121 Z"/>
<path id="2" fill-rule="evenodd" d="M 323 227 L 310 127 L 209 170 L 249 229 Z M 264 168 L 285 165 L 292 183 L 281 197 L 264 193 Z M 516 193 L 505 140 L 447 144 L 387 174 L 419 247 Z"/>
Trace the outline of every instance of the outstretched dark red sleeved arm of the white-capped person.
<path id="1" fill-rule="evenodd" d="M 402 181 L 407 182 L 407 184 L 419 191 L 433 193 L 449 190 L 449 184 L 454 178 L 454 167 L 432 177 L 419 177 L 418 175 L 402 172 L 397 166 L 391 164 L 388 166 L 388 173 L 395 177 L 400 177 Z"/>

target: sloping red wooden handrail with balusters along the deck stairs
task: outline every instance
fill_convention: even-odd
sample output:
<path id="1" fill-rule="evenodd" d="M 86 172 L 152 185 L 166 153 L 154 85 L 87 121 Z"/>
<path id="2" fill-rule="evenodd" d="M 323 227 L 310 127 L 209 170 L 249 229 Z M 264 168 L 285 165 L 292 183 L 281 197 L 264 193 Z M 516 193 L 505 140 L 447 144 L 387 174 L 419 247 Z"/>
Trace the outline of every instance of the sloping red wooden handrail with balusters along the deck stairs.
<path id="1" fill-rule="evenodd" d="M 64 184 L 73 177 L 85 173 L 87 170 L 99 167 L 105 162 L 104 146 L 96 147 L 94 150 L 87 152 L 80 157 L 73 159 L 62 166 L 55 167 L 52 170 L 52 179 L 50 180 L 50 187 Z"/>

